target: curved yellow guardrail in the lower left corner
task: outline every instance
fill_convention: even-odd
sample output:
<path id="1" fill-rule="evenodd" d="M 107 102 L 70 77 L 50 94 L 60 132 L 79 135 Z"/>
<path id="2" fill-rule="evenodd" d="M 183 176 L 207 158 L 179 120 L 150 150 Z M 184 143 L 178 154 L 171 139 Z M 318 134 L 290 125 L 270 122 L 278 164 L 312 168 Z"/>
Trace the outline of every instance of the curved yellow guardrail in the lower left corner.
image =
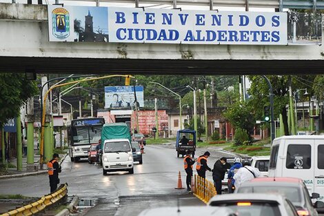
<path id="1" fill-rule="evenodd" d="M 28 204 L 26 206 L 17 208 L 15 210 L 10 210 L 10 212 L 3 213 L 0 216 L 12 216 L 12 215 L 29 216 L 35 213 L 39 213 L 39 211 L 43 210 L 47 206 L 50 206 L 55 202 L 59 201 L 59 199 L 65 197 L 67 193 L 68 193 L 68 184 L 67 183 L 61 184 L 60 188 L 56 192 L 41 197 L 41 199 L 39 199 L 37 202 L 33 202 L 32 204 Z"/>

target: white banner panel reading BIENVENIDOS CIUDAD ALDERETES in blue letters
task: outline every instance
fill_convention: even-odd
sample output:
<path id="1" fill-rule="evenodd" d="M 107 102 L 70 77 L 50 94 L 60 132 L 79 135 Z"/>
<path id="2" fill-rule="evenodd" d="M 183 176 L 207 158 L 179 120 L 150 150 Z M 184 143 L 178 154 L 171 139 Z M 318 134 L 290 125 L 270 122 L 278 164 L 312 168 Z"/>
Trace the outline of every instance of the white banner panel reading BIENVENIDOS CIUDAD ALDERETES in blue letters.
<path id="1" fill-rule="evenodd" d="M 287 45 L 285 12 L 108 8 L 110 42 Z"/>

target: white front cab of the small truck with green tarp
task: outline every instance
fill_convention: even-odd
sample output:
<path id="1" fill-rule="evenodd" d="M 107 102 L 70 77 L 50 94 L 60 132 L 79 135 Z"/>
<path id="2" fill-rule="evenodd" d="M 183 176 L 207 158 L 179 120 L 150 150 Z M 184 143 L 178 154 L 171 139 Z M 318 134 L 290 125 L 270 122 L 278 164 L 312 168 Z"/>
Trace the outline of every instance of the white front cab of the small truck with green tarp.
<path id="1" fill-rule="evenodd" d="M 129 139 L 106 139 L 102 150 L 103 175 L 108 172 L 128 171 L 134 173 L 132 152 Z"/>

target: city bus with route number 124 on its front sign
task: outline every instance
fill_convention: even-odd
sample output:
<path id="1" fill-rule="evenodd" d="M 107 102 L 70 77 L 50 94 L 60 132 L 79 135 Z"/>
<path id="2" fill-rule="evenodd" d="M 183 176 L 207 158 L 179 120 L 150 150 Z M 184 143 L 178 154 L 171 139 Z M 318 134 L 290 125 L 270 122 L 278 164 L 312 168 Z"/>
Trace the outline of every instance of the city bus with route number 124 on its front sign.
<path id="1" fill-rule="evenodd" d="M 105 124 L 102 117 L 74 119 L 68 125 L 68 146 L 71 161 L 88 158 L 91 144 L 99 144 L 101 130 Z"/>

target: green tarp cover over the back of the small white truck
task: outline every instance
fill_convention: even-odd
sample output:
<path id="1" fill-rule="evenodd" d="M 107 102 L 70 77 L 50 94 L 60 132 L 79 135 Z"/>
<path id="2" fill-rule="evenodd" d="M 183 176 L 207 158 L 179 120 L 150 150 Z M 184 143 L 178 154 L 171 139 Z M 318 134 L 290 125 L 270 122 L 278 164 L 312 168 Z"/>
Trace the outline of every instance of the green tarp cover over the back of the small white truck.
<path id="1" fill-rule="evenodd" d="M 101 149 L 103 149 L 106 139 L 129 139 L 131 142 L 130 128 L 125 123 L 104 124 L 101 131 Z"/>

